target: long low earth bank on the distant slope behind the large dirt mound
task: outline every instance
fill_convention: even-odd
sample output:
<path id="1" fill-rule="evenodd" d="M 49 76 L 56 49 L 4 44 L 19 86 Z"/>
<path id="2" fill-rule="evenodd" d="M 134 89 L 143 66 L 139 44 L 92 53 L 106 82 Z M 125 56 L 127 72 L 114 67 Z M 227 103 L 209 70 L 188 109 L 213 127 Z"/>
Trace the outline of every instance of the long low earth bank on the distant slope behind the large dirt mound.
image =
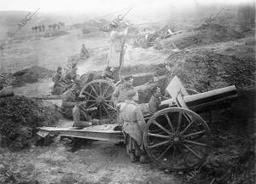
<path id="1" fill-rule="evenodd" d="M 191 45 L 207 45 L 210 43 L 227 42 L 244 37 L 240 32 L 236 32 L 227 26 L 219 24 L 201 25 L 190 32 L 183 32 L 162 41 L 162 48 L 184 49 Z"/>

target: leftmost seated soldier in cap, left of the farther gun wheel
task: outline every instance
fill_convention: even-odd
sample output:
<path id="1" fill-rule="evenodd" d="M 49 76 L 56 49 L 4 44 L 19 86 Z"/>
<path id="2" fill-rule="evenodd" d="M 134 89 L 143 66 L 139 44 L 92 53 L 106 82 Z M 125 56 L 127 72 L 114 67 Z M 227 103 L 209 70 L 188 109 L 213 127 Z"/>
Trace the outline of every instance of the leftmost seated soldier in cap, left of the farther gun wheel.
<path id="1" fill-rule="evenodd" d="M 52 81 L 54 82 L 52 95 L 61 95 L 65 90 L 64 84 L 62 82 L 62 68 L 59 66 L 57 68 L 57 72 L 52 77 Z"/>

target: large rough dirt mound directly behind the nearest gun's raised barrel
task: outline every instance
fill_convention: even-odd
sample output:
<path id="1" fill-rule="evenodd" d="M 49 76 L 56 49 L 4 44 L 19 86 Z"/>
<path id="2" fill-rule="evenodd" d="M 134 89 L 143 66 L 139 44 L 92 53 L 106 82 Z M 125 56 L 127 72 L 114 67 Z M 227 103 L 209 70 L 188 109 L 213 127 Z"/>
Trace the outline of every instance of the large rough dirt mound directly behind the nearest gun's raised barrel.
<path id="1" fill-rule="evenodd" d="M 170 79 L 177 75 L 186 88 L 199 92 L 255 83 L 255 59 L 249 55 L 225 55 L 212 49 L 183 50 L 170 55 L 166 64 L 172 68 Z"/>

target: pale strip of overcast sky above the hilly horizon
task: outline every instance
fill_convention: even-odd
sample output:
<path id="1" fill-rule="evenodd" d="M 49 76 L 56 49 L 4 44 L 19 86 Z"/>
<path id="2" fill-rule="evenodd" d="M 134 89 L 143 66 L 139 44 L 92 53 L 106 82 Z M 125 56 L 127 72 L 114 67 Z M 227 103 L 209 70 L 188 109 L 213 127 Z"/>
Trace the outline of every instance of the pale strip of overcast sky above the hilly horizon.
<path id="1" fill-rule="evenodd" d="M 189 7 L 195 3 L 242 3 L 253 0 L 1 0 L 0 10 L 108 14 L 136 6 L 137 11 L 151 11 L 175 6 Z M 135 10 L 135 9 L 134 9 Z"/>

